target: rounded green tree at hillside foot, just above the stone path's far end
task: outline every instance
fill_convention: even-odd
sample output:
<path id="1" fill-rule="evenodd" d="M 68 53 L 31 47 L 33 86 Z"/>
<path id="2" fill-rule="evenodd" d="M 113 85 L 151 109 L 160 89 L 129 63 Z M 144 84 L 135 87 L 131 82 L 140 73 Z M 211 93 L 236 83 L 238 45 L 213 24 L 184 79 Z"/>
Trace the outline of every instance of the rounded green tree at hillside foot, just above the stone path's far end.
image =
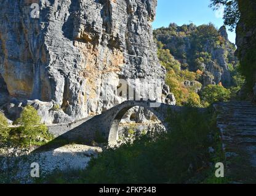
<path id="1" fill-rule="evenodd" d="M 226 89 L 222 85 L 208 85 L 201 91 L 201 99 L 206 104 L 227 101 L 230 100 L 230 96 L 230 89 Z"/>

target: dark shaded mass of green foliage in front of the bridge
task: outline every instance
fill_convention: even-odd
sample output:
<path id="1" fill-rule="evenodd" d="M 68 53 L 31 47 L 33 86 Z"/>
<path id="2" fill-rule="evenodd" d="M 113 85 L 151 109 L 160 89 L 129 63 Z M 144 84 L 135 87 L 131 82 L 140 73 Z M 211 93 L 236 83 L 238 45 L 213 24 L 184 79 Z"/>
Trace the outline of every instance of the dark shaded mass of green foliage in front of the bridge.
<path id="1" fill-rule="evenodd" d="M 47 183 L 221 183 L 214 165 L 223 161 L 215 116 L 193 108 L 169 111 L 172 132 L 152 141 L 146 136 L 133 144 L 107 149 L 86 170 L 56 171 Z M 209 148 L 215 152 L 210 153 Z"/>

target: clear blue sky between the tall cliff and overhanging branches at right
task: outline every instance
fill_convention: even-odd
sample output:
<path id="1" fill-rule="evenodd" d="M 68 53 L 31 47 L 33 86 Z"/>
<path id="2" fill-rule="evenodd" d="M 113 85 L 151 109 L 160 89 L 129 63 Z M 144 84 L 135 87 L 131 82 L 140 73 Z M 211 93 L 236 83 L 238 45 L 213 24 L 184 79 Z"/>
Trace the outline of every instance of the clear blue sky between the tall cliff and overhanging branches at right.
<path id="1" fill-rule="evenodd" d="M 169 26 L 170 23 L 177 25 L 190 24 L 202 25 L 213 23 L 217 28 L 223 25 L 222 17 L 218 17 L 209 7 L 210 0 L 158 0 L 156 20 L 153 28 Z M 228 32 L 228 38 L 235 43 L 235 32 Z"/>

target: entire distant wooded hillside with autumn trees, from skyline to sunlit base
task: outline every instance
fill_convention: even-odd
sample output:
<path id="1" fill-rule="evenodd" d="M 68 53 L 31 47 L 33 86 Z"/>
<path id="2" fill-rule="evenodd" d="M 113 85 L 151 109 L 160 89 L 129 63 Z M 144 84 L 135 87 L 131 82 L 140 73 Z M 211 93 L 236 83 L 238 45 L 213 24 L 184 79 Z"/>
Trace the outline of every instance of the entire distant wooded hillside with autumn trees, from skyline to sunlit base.
<path id="1" fill-rule="evenodd" d="M 212 24 L 171 23 L 168 28 L 154 30 L 154 37 L 178 104 L 200 105 L 198 93 L 208 85 L 229 88 L 231 96 L 236 95 L 243 78 L 238 74 L 236 47 L 228 40 L 225 26 L 216 29 Z"/>

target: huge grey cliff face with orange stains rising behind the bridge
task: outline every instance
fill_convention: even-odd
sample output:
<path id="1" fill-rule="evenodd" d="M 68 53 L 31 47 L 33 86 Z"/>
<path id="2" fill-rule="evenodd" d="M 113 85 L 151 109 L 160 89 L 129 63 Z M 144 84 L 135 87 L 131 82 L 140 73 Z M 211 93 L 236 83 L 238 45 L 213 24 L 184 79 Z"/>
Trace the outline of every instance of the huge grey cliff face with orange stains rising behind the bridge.
<path id="1" fill-rule="evenodd" d="M 33 3 L 38 3 L 38 12 L 34 12 L 36 4 L 31 9 Z M 62 119 L 97 115 L 122 102 L 117 94 L 121 79 L 129 83 L 144 78 L 148 83 L 158 81 L 163 88 L 166 70 L 158 62 L 151 29 L 156 3 L 3 0 L 1 94 L 23 105 L 36 100 L 38 108 L 46 108 L 41 112 L 45 123 L 55 119 L 62 123 Z M 31 17 L 34 13 L 38 18 Z M 8 101 L 6 96 L 1 99 Z M 50 110 L 51 105 L 61 111 Z"/>

